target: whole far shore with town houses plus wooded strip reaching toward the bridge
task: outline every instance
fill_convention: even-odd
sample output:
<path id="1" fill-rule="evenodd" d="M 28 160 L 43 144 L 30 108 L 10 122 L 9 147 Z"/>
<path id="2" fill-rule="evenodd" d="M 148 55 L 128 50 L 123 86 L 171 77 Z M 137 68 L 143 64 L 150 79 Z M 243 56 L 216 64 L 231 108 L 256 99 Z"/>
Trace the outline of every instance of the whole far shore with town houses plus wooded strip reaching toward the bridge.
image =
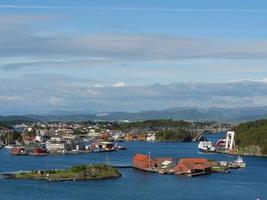
<path id="1" fill-rule="evenodd" d="M 154 125 L 157 124 L 157 125 Z M 215 126 L 216 128 L 215 129 Z M 77 154 L 126 150 L 123 141 L 192 141 L 229 124 L 160 120 L 146 122 L 37 122 L 2 124 L 0 146 L 12 155 Z"/>

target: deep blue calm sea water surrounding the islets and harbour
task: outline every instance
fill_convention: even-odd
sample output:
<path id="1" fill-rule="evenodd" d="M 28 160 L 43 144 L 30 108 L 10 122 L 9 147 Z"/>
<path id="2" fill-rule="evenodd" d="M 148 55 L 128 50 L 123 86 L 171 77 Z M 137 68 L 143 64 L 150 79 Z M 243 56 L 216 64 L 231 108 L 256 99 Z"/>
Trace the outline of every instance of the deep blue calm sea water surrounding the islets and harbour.
<path id="1" fill-rule="evenodd" d="M 136 152 L 152 156 L 206 157 L 233 160 L 234 156 L 201 154 L 195 143 L 125 142 L 127 151 L 108 153 L 112 164 L 130 164 Z M 45 168 L 66 168 L 81 163 L 105 162 L 106 154 L 80 154 L 46 157 L 14 157 L 0 150 L 0 172 Z M 121 169 L 122 177 L 114 180 L 48 183 L 33 180 L 0 179 L 2 200 L 255 200 L 267 199 L 267 158 L 244 157 L 246 169 L 231 174 L 211 174 L 194 178 L 144 173 Z"/>

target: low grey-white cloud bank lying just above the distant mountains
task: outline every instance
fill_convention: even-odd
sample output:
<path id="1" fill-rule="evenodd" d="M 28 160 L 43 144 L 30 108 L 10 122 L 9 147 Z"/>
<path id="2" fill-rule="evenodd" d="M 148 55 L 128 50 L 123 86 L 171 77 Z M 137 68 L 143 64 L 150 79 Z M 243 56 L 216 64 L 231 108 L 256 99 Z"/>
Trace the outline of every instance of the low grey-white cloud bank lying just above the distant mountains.
<path id="1" fill-rule="evenodd" d="M 7 82 L 2 81 L 1 82 Z M 140 111 L 169 107 L 240 107 L 267 106 L 267 85 L 263 81 L 221 83 L 172 83 L 127 86 L 124 82 L 110 86 L 62 86 L 51 83 L 32 86 L 18 83 L 0 86 L 0 110 L 48 112 L 56 108 L 97 111 Z M 16 95 L 13 95 L 16 94 Z M 47 99 L 47 97 L 49 97 Z M 27 101 L 26 101 L 27 100 Z M 41 106 L 40 106 L 41 105 Z M 131 106 L 129 106 L 131 105 Z"/>

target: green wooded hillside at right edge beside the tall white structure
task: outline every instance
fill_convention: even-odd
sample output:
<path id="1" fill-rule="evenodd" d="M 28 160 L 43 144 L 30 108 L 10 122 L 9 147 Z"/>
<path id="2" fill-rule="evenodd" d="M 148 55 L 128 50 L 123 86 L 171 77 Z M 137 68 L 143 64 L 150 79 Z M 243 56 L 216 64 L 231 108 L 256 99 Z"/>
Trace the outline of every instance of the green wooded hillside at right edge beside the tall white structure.
<path id="1" fill-rule="evenodd" d="M 241 151 L 267 155 L 267 119 L 242 123 L 234 131 Z"/>

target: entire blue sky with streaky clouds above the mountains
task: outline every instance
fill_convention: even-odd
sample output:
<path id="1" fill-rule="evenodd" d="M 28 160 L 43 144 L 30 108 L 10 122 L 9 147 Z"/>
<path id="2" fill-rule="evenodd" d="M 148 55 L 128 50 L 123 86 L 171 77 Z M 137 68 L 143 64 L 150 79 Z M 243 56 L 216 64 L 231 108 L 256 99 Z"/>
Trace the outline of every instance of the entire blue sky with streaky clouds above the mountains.
<path id="1" fill-rule="evenodd" d="M 267 106 L 262 0 L 0 0 L 0 115 Z"/>

